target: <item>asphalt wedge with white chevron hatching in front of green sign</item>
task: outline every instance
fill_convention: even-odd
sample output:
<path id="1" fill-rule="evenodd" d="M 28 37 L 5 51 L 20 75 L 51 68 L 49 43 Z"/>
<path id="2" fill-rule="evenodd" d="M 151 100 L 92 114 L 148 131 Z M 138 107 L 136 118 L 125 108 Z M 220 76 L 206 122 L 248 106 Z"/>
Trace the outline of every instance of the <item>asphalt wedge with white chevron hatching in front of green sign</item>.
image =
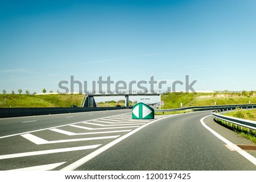
<path id="1" fill-rule="evenodd" d="M 30 123 L 34 125 L 31 129 L 42 130 L 0 137 L 0 170 L 59 170 L 152 121 L 131 119 L 131 110 L 80 114 L 68 117 L 71 119 L 68 122 L 65 121 L 67 115 L 38 117 L 44 119 L 24 124 Z M 153 121 L 161 117 L 157 116 Z M 16 124 L 27 120 L 24 117 L 13 119 Z M 59 122 L 55 123 L 56 120 Z"/>

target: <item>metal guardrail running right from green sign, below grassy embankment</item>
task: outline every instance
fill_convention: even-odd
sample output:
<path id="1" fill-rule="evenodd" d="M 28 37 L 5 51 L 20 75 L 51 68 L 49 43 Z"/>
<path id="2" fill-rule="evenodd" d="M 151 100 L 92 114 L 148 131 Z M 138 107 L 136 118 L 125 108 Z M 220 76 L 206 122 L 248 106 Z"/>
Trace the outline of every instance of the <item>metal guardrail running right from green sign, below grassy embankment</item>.
<path id="1" fill-rule="evenodd" d="M 255 107 L 256 104 L 237 104 L 237 105 L 214 105 L 214 106 L 191 106 L 191 107 L 180 107 L 176 109 L 160 109 L 155 110 L 155 112 L 170 112 L 170 111 L 180 111 L 180 110 L 217 110 L 217 109 L 236 109 L 236 107 L 246 108 L 246 107 Z"/>

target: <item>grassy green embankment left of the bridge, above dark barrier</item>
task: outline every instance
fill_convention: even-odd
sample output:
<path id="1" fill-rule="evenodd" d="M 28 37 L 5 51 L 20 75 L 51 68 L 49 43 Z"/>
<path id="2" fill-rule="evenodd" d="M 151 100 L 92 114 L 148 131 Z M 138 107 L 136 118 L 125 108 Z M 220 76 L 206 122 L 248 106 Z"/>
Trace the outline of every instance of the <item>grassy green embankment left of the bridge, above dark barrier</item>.
<path id="1" fill-rule="evenodd" d="M 84 99 L 80 94 L 0 94 L 0 107 L 70 107 L 81 106 Z"/>

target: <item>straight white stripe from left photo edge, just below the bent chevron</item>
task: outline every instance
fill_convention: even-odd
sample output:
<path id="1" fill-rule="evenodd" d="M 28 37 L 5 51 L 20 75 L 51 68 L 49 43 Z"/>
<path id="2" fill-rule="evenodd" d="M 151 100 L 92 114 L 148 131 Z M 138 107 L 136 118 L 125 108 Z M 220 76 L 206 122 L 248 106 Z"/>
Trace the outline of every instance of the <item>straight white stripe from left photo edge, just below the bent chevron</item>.
<path id="1" fill-rule="evenodd" d="M 71 147 L 71 148 L 59 148 L 59 149 L 53 149 L 53 150 L 42 150 L 42 151 L 34 151 L 34 152 L 23 152 L 18 154 L 7 154 L 7 155 L 0 155 L 0 160 L 11 159 L 11 158 L 21 158 L 21 157 L 34 156 L 34 155 L 43 155 L 43 154 L 55 154 L 60 152 L 79 151 L 79 150 L 97 148 L 98 146 L 101 146 L 101 144 L 94 144 L 91 146 Z"/>

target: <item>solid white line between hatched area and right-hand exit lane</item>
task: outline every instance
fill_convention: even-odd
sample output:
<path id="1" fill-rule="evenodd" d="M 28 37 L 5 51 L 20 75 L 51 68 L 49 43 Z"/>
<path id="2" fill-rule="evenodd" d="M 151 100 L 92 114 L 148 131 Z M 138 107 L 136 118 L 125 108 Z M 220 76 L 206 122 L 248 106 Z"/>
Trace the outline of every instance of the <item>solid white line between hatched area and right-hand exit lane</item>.
<path id="1" fill-rule="evenodd" d="M 72 170 L 75 170 L 76 168 L 82 166 L 83 164 L 85 164 L 89 160 L 95 158 L 97 155 L 100 155 L 102 152 L 108 150 L 110 147 L 113 147 L 115 144 L 121 142 L 122 140 L 126 139 L 127 137 L 130 137 L 131 135 L 133 135 L 137 131 L 143 129 L 144 127 L 146 127 L 148 125 L 151 125 L 152 123 L 154 123 L 156 121 L 160 121 L 162 119 L 166 119 L 166 118 L 169 118 L 169 117 L 172 117 L 172 116 L 174 116 L 174 115 L 170 115 L 168 117 L 156 119 L 155 121 L 149 122 L 146 125 L 138 127 L 137 129 L 131 131 L 130 133 L 127 133 L 126 135 L 123 135 L 122 137 L 114 140 L 113 142 L 110 142 L 110 143 L 106 144 L 105 146 L 103 146 L 103 147 L 99 148 L 98 150 L 90 153 L 89 155 L 84 156 L 84 158 L 81 158 L 81 159 L 77 160 L 75 163 L 69 164 L 69 166 L 66 166 L 63 169 L 60 169 L 60 171 L 72 171 Z"/>

